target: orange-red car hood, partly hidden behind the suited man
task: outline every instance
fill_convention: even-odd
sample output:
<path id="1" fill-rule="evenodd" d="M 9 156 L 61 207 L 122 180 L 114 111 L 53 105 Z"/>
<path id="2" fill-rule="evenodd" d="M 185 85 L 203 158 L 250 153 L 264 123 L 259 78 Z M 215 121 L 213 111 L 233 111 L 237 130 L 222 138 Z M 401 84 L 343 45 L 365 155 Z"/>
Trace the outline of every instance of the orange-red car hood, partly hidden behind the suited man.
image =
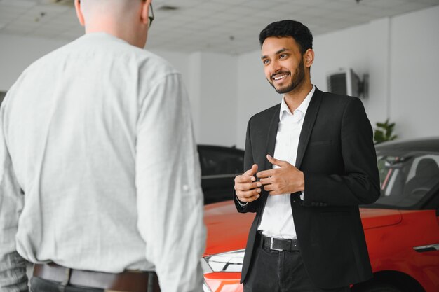
<path id="1" fill-rule="evenodd" d="M 396 225 L 402 221 L 401 212 L 393 209 L 360 209 L 363 228 Z M 204 221 L 208 228 L 205 256 L 245 249 L 254 213 L 238 213 L 233 201 L 205 206 Z"/>

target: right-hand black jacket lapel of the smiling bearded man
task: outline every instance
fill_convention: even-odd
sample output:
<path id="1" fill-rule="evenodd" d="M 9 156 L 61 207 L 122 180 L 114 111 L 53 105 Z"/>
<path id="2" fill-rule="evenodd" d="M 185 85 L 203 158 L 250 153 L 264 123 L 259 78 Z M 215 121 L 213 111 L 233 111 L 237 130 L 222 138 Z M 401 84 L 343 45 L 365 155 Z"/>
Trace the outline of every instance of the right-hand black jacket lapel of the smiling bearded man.
<path id="1" fill-rule="evenodd" d="M 299 146 L 297 147 L 297 158 L 296 165 L 300 169 L 302 165 L 302 160 L 304 158 L 306 146 L 308 146 L 309 137 L 311 137 L 311 132 L 313 130 L 314 122 L 316 122 L 316 117 L 318 109 L 320 108 L 320 103 L 322 101 L 322 92 L 316 88 L 316 91 L 309 102 L 308 109 L 306 109 L 306 114 L 304 118 L 304 123 L 302 125 L 302 131 L 299 137 Z"/>

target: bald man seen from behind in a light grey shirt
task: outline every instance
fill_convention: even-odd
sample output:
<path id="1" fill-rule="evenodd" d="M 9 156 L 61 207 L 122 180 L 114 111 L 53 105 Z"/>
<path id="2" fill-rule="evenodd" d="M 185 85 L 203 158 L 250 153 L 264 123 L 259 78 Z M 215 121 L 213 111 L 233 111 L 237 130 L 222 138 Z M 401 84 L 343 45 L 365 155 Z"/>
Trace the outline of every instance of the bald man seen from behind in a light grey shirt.
<path id="1" fill-rule="evenodd" d="M 0 291 L 202 291 L 203 196 L 180 74 L 143 50 L 151 1 L 76 0 L 86 34 L 0 109 Z M 160 290 L 161 289 L 161 290 Z"/>

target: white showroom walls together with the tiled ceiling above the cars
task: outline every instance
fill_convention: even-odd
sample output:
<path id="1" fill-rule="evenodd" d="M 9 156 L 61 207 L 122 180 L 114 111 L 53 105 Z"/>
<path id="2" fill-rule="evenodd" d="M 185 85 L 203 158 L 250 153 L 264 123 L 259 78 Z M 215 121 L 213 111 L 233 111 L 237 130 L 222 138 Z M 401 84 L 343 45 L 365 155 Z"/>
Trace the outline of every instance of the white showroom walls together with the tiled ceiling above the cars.
<path id="1" fill-rule="evenodd" d="M 83 34 L 72 1 L 50 2 L 56 1 L 0 1 L 0 91 Z M 257 36 L 269 22 L 288 18 L 314 34 L 311 80 L 320 90 L 339 68 L 361 79 L 368 74 L 362 101 L 372 125 L 389 118 L 400 139 L 438 134 L 439 1 L 156 2 L 146 48 L 182 73 L 198 143 L 243 148 L 248 118 L 280 102 L 264 77 Z"/>

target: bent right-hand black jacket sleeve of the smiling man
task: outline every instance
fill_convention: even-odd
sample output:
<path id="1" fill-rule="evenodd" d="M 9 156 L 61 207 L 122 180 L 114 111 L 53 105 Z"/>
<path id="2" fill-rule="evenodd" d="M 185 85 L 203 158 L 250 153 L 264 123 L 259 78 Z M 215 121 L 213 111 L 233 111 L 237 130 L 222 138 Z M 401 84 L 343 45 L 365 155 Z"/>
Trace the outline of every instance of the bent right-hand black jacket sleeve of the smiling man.
<path id="1" fill-rule="evenodd" d="M 380 195 L 372 127 L 360 99 L 346 104 L 342 117 L 343 174 L 305 172 L 304 205 L 371 204 Z"/>

